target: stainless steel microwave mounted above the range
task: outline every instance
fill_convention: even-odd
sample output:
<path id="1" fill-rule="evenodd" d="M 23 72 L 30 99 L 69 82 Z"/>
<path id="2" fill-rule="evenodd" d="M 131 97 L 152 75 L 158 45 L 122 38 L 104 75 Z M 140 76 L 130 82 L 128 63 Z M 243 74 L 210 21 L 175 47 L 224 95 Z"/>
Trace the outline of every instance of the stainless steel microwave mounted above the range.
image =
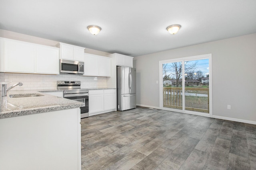
<path id="1" fill-rule="evenodd" d="M 60 74 L 84 74 L 84 62 L 60 59 Z"/>

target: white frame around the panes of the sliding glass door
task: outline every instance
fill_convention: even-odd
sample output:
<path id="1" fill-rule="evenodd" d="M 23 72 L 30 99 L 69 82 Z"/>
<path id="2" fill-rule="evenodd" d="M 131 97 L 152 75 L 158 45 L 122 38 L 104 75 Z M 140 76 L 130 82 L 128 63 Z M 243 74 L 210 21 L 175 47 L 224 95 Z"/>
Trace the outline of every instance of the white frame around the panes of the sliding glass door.
<path id="1" fill-rule="evenodd" d="M 197 111 L 185 110 L 185 107 L 184 107 L 185 98 L 182 98 L 182 110 L 164 107 L 163 106 L 163 64 L 176 63 L 181 61 L 182 63 L 184 63 L 186 61 L 200 60 L 200 59 L 209 59 L 209 113 L 201 113 Z M 184 64 L 182 64 L 182 92 L 184 92 L 184 88 L 185 88 L 184 80 L 185 80 Z M 159 106 L 160 106 L 160 109 L 162 110 L 176 111 L 180 113 L 189 113 L 193 115 L 202 115 L 206 117 L 212 117 L 212 54 L 196 55 L 196 56 L 190 56 L 190 57 L 182 57 L 182 58 L 159 61 L 159 95 L 160 95 Z"/>

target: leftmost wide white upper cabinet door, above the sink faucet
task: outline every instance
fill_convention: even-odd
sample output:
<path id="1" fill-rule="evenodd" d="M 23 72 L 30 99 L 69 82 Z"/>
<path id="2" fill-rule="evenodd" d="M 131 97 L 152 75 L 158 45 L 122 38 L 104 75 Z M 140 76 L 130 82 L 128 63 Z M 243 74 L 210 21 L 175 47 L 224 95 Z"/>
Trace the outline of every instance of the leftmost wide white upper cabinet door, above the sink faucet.
<path id="1" fill-rule="evenodd" d="M 34 73 L 34 45 L 4 40 L 6 72 Z"/>

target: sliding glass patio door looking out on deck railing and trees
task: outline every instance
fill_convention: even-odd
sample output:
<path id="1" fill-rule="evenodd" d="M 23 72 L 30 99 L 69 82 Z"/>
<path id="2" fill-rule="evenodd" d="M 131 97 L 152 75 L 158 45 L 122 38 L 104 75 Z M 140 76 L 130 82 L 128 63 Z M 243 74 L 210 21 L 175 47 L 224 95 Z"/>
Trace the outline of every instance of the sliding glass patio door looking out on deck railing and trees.
<path id="1" fill-rule="evenodd" d="M 159 62 L 160 107 L 192 114 L 211 113 L 211 55 Z"/>

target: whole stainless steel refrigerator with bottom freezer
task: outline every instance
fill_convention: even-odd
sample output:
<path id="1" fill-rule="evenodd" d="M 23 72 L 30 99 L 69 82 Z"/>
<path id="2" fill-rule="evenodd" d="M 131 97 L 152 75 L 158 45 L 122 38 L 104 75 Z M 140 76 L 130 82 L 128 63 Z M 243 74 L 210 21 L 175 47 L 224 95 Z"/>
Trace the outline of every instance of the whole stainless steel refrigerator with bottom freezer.
<path id="1" fill-rule="evenodd" d="M 136 68 L 117 66 L 117 110 L 136 108 Z"/>

